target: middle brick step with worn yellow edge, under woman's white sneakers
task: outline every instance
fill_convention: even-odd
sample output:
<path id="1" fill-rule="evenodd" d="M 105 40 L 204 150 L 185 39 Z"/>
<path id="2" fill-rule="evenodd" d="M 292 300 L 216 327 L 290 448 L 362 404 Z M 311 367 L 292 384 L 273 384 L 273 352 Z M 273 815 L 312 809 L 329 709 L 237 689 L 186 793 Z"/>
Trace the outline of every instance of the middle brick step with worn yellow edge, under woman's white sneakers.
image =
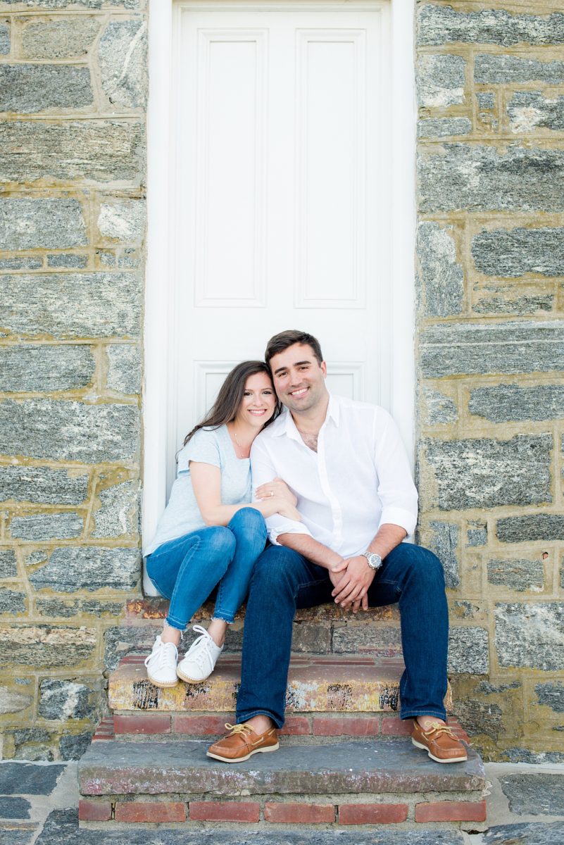
<path id="1" fill-rule="evenodd" d="M 398 657 L 305 657 L 290 661 L 286 711 L 303 713 L 366 714 L 399 710 L 399 679 L 404 663 Z M 139 713 L 230 714 L 236 706 L 241 659 L 222 655 L 215 671 L 201 684 L 161 690 L 147 678 L 144 657 L 128 655 L 111 673 L 109 704 L 117 715 Z M 450 689 L 445 700 L 452 709 Z M 176 724 L 176 722 L 175 722 Z M 180 724 L 180 722 L 178 722 Z"/>

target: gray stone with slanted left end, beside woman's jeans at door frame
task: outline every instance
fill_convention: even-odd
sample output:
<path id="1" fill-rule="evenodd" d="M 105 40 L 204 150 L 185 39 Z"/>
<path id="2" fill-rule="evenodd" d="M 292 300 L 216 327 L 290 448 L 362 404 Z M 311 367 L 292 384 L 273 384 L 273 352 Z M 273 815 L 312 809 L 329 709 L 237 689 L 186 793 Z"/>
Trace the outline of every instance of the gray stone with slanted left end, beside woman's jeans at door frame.
<path id="1" fill-rule="evenodd" d="M 35 590 L 133 590 L 141 572 L 136 548 L 56 548 L 48 562 L 30 573 Z"/>

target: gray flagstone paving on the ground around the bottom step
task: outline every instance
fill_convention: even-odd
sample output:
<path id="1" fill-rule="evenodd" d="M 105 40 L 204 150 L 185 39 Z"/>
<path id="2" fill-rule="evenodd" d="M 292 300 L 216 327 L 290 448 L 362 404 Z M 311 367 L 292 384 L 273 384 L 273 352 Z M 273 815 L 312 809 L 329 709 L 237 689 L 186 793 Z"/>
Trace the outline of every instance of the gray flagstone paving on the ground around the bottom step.
<path id="1" fill-rule="evenodd" d="M 484 833 L 391 826 L 331 831 L 312 826 L 272 831 L 138 829 L 104 831 L 106 845 L 562 845 L 564 766 L 489 763 Z M 0 762 L 3 845 L 100 845 L 100 831 L 79 830 L 76 763 Z"/>

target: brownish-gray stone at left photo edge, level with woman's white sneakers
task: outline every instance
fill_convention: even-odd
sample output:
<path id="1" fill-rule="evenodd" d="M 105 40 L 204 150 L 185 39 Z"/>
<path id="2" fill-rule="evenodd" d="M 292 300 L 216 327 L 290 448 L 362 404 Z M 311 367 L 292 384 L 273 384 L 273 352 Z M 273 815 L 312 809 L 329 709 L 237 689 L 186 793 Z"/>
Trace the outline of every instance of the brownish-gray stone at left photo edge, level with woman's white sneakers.
<path id="1" fill-rule="evenodd" d="M 33 625 L 0 629 L 0 660 L 6 666 L 77 666 L 93 657 L 98 642 L 95 628 Z"/>

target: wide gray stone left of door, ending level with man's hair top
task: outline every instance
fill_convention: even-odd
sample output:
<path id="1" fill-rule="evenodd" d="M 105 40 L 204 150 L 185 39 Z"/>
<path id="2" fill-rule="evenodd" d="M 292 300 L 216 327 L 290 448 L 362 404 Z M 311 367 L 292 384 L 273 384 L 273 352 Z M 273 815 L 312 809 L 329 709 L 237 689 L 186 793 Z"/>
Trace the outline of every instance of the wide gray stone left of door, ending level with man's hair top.
<path id="1" fill-rule="evenodd" d="M 136 337 L 142 299 L 138 273 L 4 275 L 0 324 L 28 337 Z"/>

